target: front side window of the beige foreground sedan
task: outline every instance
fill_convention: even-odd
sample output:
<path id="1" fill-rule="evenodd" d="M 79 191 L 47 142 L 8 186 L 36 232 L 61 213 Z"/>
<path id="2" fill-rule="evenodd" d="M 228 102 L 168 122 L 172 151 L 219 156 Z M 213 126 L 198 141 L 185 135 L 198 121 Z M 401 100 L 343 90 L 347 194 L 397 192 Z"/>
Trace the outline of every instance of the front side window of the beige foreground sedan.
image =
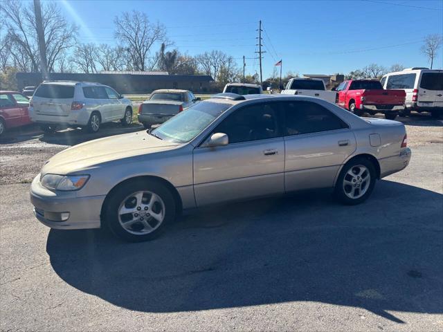
<path id="1" fill-rule="evenodd" d="M 223 120 L 214 133 L 226 133 L 229 144 L 279 137 L 278 113 L 276 102 L 245 106 Z"/>

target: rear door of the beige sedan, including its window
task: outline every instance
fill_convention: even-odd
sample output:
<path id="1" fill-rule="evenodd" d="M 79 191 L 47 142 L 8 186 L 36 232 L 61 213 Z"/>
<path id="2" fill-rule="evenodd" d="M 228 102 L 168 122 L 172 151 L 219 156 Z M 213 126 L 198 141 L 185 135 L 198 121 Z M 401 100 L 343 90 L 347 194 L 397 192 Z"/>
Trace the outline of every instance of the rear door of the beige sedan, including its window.
<path id="1" fill-rule="evenodd" d="M 286 191 L 332 187 L 338 169 L 356 149 L 354 133 L 316 102 L 282 102 L 282 109 Z"/>

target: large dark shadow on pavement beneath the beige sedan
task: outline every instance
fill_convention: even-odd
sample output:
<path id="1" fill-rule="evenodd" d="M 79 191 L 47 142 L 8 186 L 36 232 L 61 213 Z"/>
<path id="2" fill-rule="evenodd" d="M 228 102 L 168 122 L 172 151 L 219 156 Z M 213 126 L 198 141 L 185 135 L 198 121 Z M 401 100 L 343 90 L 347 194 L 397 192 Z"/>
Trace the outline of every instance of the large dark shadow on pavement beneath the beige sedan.
<path id="1" fill-rule="evenodd" d="M 66 283 L 134 311 L 313 301 L 404 323 L 388 311 L 443 313 L 442 202 L 379 181 L 362 205 L 323 192 L 260 199 L 183 216 L 145 243 L 51 230 L 46 251 Z"/>

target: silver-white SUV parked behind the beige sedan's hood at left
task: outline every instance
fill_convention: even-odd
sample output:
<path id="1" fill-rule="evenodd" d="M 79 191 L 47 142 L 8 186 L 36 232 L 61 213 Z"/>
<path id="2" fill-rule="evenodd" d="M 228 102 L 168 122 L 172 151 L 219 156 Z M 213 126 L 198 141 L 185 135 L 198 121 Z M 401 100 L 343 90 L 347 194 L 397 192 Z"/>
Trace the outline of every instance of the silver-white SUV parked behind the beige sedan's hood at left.
<path id="1" fill-rule="evenodd" d="M 130 124 L 132 102 L 99 83 L 45 81 L 30 100 L 29 116 L 46 132 L 68 126 L 96 133 L 103 122 Z"/>

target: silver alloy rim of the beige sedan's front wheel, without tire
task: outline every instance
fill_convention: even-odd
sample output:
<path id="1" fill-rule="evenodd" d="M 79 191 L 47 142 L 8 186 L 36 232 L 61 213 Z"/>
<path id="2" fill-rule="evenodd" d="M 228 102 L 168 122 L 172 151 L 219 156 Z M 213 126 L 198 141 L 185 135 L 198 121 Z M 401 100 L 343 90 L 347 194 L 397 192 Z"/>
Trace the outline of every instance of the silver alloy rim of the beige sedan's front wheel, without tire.
<path id="1" fill-rule="evenodd" d="M 149 234 L 159 228 L 164 219 L 165 203 L 154 192 L 134 192 L 118 207 L 118 221 L 131 234 Z"/>

